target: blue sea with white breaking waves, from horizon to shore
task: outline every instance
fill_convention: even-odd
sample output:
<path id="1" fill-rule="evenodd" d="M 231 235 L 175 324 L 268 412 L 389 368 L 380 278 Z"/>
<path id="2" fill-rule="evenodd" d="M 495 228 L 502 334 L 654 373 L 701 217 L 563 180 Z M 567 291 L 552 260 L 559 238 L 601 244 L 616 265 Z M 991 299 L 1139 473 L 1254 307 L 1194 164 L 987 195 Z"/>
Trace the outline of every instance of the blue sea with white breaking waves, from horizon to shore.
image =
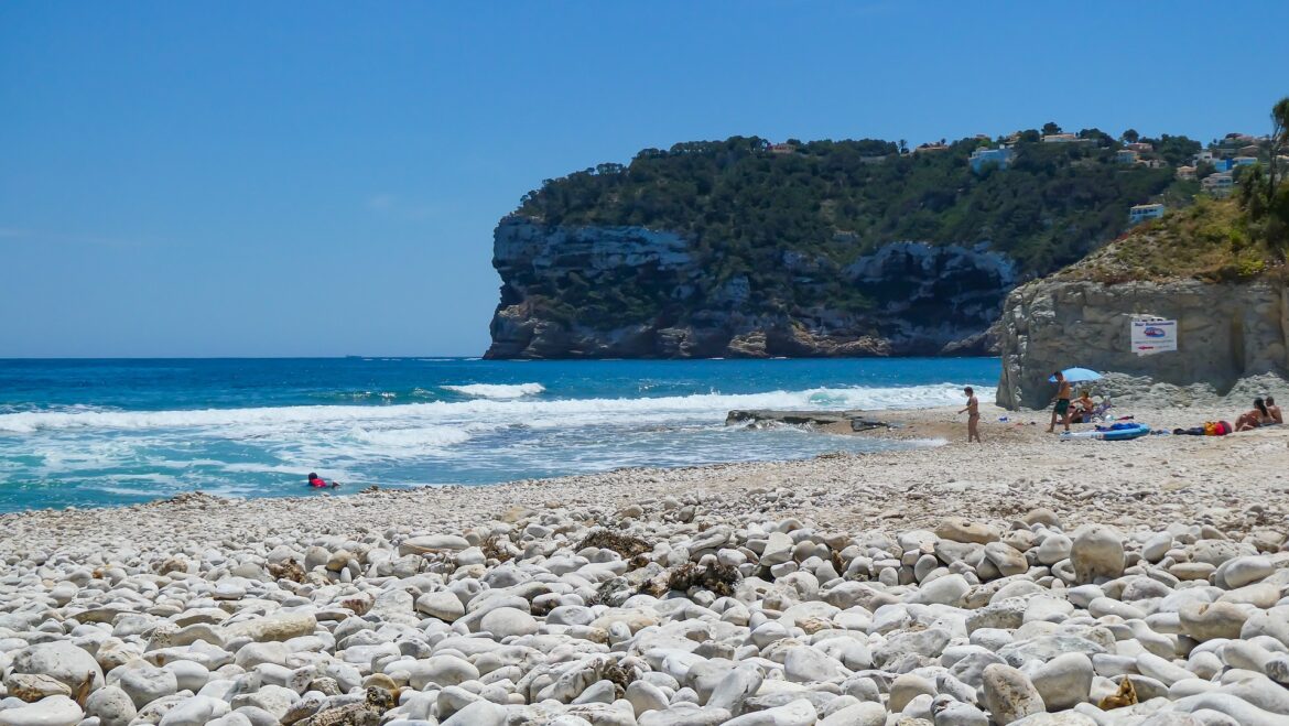
<path id="1" fill-rule="evenodd" d="M 345 494 L 933 446 L 724 419 L 951 405 L 967 384 L 987 400 L 998 373 L 998 358 L 0 360 L 0 512 L 302 495 L 309 472 Z"/>

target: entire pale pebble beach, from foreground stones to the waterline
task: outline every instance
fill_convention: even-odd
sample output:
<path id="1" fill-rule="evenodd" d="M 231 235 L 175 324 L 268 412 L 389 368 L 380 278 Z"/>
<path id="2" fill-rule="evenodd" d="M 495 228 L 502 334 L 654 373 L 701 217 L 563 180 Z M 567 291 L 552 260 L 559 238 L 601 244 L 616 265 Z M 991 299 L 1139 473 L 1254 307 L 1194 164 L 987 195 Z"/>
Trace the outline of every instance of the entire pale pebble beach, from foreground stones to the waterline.
<path id="1" fill-rule="evenodd" d="M 946 445 L 0 516 L 0 726 L 1289 723 L 1289 431 L 985 409 L 982 445 L 928 409 L 884 435 Z"/>

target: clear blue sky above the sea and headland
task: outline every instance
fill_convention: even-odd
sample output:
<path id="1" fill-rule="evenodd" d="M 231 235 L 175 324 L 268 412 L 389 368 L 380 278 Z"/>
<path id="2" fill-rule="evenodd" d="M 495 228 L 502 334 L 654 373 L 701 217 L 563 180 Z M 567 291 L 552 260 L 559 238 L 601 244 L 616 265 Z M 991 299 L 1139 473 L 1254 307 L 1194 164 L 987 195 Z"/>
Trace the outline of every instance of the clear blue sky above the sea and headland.
<path id="1" fill-rule="evenodd" d="M 728 135 L 1266 133 L 1289 3 L 0 3 L 0 357 L 480 355 L 543 179 Z"/>

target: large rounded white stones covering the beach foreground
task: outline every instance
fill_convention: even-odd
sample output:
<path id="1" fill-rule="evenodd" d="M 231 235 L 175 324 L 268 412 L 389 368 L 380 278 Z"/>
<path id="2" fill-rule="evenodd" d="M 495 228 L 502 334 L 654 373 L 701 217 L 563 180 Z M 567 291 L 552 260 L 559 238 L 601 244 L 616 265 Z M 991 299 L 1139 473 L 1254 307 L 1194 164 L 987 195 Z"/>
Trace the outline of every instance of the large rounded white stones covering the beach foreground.
<path id="1" fill-rule="evenodd" d="M 0 576 L 0 725 L 1289 721 L 1289 552 L 1262 508 L 1132 533 L 757 512 L 797 496 L 513 505 L 456 531 L 338 503 L 329 533 L 242 539 L 218 525 L 242 504 L 187 495 L 160 504 L 174 536 L 28 538 Z"/>

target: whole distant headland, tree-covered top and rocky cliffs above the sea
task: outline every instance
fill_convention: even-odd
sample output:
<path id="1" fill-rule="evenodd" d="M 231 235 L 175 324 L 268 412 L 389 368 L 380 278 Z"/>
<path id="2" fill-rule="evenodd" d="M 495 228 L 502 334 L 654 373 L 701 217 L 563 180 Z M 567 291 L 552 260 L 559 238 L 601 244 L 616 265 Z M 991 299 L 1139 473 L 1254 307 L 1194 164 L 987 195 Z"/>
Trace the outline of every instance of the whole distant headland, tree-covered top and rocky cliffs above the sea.
<path id="1" fill-rule="evenodd" d="M 1156 162 L 1125 166 L 1096 129 L 1078 143 L 1025 132 L 914 153 L 733 137 L 548 179 L 494 232 L 501 295 L 486 355 L 991 353 L 1008 291 L 1178 187 L 1167 164 L 1200 144 L 1165 138 Z M 972 161 L 994 143 L 1005 169 Z"/>

